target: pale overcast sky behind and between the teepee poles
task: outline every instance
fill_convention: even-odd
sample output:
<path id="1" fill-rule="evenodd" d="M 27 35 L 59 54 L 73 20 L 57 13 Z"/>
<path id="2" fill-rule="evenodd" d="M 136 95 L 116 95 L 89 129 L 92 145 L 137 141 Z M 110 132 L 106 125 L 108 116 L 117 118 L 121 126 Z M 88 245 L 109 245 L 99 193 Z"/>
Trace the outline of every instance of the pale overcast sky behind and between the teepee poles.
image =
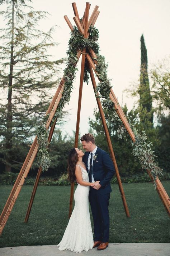
<path id="1" fill-rule="evenodd" d="M 33 0 L 31 4 L 35 10 L 45 10 L 51 14 L 46 21 L 42 21 L 41 29 L 48 30 L 57 24 L 54 40 L 59 45 L 53 49 L 57 59 L 66 57 L 66 50 L 70 38 L 64 15 L 72 24 L 74 12 L 70 0 Z M 79 16 L 82 17 L 86 1 L 76 1 Z M 108 76 L 112 79 L 114 93 L 119 103 L 122 103 L 122 91 L 137 83 L 140 76 L 140 37 L 143 33 L 148 56 L 148 68 L 159 60 L 170 56 L 170 1 L 169 0 L 91 0 L 90 14 L 95 5 L 99 6 L 99 17 L 95 27 L 99 30 L 100 54 L 105 56 L 109 64 Z M 80 61 L 79 61 L 80 63 Z M 80 65 L 79 65 L 80 69 Z M 74 83 L 74 92 L 66 110 L 71 109 L 70 120 L 63 127 L 65 133 L 72 134 L 76 127 L 78 89 L 80 73 Z M 98 80 L 96 80 L 98 82 Z M 123 104 L 132 108 L 134 99 L 123 94 Z M 80 133 L 88 132 L 88 118 L 93 117 L 96 99 L 91 83 L 84 84 Z"/>

